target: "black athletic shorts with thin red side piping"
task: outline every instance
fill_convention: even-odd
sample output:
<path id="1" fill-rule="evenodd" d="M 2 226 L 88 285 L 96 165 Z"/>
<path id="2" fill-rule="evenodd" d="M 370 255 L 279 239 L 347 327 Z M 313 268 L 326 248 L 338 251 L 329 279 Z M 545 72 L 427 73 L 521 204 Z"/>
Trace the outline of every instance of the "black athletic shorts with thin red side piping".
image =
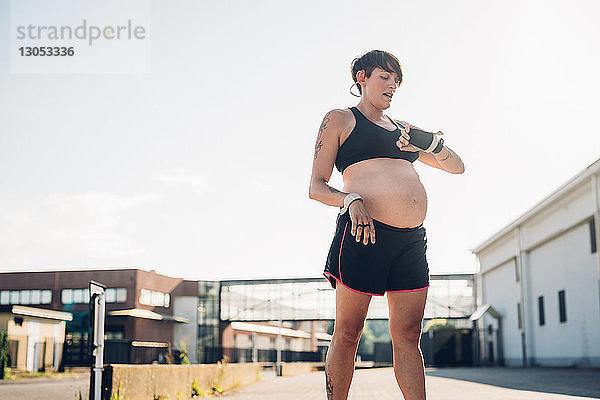
<path id="1" fill-rule="evenodd" d="M 355 292 L 383 296 L 429 287 L 427 234 L 423 224 L 398 228 L 373 220 L 375 244 L 352 236 L 350 213 L 338 214 L 323 275 Z M 358 229 L 357 229 L 358 230 Z"/>

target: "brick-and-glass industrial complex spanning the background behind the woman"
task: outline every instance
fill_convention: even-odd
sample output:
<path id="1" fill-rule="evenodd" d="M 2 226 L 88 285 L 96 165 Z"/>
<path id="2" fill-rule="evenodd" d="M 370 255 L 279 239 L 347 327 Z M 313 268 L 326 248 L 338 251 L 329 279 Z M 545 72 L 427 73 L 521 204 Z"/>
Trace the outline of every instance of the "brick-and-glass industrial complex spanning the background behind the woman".
<path id="1" fill-rule="evenodd" d="M 322 361 L 335 319 L 335 291 L 323 278 L 195 281 L 140 269 L 0 273 L 0 306 L 67 312 L 62 363 L 87 365 L 90 280 L 106 285 L 107 363 Z M 423 323 L 428 365 L 471 365 L 474 274 L 431 275 Z M 388 319 L 384 297 L 369 320 Z M 16 347 L 13 345 L 13 349 Z M 391 342 L 359 348 L 391 362 Z M 13 355 L 17 359 L 18 355 Z"/>

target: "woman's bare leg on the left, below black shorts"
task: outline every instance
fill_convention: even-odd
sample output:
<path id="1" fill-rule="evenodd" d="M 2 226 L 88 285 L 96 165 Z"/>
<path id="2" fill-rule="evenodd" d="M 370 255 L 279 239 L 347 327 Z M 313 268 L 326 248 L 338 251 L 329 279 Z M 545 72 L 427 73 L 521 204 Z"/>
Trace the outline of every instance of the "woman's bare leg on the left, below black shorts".
<path id="1" fill-rule="evenodd" d="M 335 289 L 335 327 L 325 361 L 327 400 L 346 400 L 352 375 L 354 357 L 371 296 L 353 292 L 340 285 Z"/>

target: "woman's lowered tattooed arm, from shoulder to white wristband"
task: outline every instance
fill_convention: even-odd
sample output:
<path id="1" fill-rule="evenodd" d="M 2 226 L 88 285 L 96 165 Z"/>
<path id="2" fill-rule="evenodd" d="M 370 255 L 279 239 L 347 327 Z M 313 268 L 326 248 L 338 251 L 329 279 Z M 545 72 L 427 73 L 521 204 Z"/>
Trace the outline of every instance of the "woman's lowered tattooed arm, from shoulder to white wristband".
<path id="1" fill-rule="evenodd" d="M 342 110 L 329 111 L 323 117 L 317 135 L 317 142 L 315 143 L 308 197 L 328 206 L 343 207 L 344 197 L 348 194 L 340 192 L 327 184 L 329 178 L 331 178 L 335 158 L 337 157 L 339 139 L 344 126 L 344 112 Z"/>

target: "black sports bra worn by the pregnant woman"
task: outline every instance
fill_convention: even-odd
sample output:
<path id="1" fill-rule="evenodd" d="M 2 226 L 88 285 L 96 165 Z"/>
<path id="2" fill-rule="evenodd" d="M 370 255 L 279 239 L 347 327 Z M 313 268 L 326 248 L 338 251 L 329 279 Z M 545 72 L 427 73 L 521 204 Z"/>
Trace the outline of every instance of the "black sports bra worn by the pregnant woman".
<path id="1" fill-rule="evenodd" d="M 356 119 L 356 125 L 348 138 L 338 149 L 335 167 L 342 174 L 344 170 L 359 161 L 370 158 L 399 158 L 414 162 L 419 158 L 418 151 L 403 151 L 396 142 L 400 137 L 400 128 L 396 121 L 396 129 L 388 131 L 365 117 L 356 107 L 350 107 Z"/>

